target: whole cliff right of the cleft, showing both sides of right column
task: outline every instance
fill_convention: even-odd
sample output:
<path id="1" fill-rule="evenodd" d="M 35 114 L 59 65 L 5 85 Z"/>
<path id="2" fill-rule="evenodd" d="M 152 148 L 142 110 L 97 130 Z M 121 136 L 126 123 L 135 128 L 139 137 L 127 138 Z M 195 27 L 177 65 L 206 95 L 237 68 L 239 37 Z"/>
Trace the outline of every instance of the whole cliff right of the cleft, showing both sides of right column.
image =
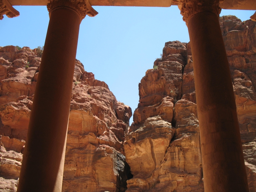
<path id="1" fill-rule="evenodd" d="M 256 22 L 220 17 L 232 75 L 250 192 L 256 191 Z M 165 43 L 139 84 L 125 137 L 127 192 L 204 191 L 190 44 Z"/>

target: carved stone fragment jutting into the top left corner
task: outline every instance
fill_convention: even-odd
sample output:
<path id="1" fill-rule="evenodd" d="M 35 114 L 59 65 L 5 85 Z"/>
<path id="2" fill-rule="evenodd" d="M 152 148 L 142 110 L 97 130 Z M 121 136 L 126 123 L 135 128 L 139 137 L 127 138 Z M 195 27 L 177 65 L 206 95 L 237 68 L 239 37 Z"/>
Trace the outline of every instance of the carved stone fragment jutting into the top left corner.
<path id="1" fill-rule="evenodd" d="M 18 17 L 20 12 L 12 7 L 8 0 L 0 0 L 0 20 L 6 15 L 9 18 Z"/>

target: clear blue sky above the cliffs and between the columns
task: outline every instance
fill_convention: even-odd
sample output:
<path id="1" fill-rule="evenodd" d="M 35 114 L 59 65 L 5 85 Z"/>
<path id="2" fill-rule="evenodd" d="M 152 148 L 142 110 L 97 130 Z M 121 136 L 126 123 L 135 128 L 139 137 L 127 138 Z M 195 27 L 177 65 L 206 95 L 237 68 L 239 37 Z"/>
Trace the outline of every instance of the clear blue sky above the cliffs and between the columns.
<path id="1" fill-rule="evenodd" d="M 14 6 L 17 18 L 0 20 L 0 46 L 43 46 L 49 22 L 46 6 Z M 189 42 L 188 29 L 177 6 L 100 7 L 96 17 L 80 25 L 76 58 L 95 78 L 105 81 L 117 100 L 132 108 L 139 101 L 138 84 L 162 53 L 164 43 Z M 222 15 L 250 19 L 255 11 L 222 10 Z M 131 119 L 132 122 L 132 119 Z"/>

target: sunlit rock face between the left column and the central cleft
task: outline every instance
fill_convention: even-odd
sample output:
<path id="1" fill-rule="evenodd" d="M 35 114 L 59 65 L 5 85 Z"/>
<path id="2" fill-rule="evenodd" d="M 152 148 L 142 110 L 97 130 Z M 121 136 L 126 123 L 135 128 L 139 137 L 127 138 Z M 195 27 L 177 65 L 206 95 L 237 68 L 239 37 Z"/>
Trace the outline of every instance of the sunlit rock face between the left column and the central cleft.
<path id="1" fill-rule="evenodd" d="M 132 110 L 83 72 L 72 92 L 62 191 L 125 191 L 124 136 Z"/>

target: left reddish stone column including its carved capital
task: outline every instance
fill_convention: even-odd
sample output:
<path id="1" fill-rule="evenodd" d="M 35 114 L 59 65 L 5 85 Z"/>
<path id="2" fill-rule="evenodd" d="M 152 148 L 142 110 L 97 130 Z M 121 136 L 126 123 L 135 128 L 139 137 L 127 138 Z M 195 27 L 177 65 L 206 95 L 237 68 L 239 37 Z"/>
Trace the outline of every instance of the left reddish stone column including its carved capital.
<path id="1" fill-rule="evenodd" d="M 97 12 L 83 0 L 50 0 L 42 62 L 18 192 L 60 192 L 79 25 Z"/>

